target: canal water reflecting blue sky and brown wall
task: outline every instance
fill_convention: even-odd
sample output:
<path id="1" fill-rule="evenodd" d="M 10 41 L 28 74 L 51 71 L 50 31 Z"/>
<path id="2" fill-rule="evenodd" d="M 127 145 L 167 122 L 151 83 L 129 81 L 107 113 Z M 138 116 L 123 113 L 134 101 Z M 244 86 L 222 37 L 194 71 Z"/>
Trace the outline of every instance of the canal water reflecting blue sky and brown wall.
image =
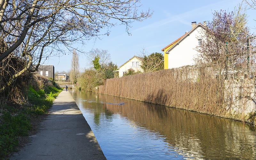
<path id="1" fill-rule="evenodd" d="M 70 93 L 108 160 L 256 159 L 256 132 L 249 124 L 92 92 Z"/>

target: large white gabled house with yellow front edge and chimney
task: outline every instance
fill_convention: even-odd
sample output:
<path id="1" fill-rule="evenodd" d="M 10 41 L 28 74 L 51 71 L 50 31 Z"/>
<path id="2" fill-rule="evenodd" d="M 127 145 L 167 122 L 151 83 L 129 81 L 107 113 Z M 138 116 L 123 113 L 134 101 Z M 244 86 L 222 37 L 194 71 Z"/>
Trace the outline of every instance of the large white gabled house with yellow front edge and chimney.
<path id="1" fill-rule="evenodd" d="M 198 55 L 195 49 L 201 45 L 205 25 L 205 21 L 203 25 L 192 22 L 190 31 L 162 49 L 164 52 L 164 69 L 195 64 L 194 58 Z"/>

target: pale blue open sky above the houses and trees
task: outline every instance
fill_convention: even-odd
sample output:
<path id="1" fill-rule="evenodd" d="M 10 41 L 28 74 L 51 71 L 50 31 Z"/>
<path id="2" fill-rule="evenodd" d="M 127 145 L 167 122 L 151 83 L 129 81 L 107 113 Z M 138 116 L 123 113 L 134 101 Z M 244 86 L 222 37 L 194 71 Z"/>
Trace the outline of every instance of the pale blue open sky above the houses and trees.
<path id="1" fill-rule="evenodd" d="M 132 23 L 129 36 L 123 25 L 110 28 L 109 36 L 101 36 L 100 39 L 93 38 L 85 44 L 73 44 L 74 48 L 84 52 L 92 49 L 108 50 L 111 61 L 118 67 L 124 64 L 134 55 L 141 55 L 143 49 L 148 53 L 160 52 L 161 50 L 191 30 L 191 22 L 203 23 L 212 20 L 212 12 L 226 10 L 234 11 L 241 0 L 215 0 L 215 1 L 171 1 L 171 0 L 141 0 L 142 10 L 153 11 L 151 18 L 142 22 Z M 256 11 L 248 10 L 248 26 L 255 32 L 256 24 L 254 16 Z M 256 17 L 255 17 L 256 19 Z M 77 51 L 78 52 L 78 51 Z M 79 70 L 92 67 L 87 59 L 86 53 L 79 53 Z M 87 53 L 89 54 L 89 53 Z M 51 57 L 44 64 L 54 65 L 55 72 L 68 72 L 71 68 L 72 53 L 60 57 Z"/>

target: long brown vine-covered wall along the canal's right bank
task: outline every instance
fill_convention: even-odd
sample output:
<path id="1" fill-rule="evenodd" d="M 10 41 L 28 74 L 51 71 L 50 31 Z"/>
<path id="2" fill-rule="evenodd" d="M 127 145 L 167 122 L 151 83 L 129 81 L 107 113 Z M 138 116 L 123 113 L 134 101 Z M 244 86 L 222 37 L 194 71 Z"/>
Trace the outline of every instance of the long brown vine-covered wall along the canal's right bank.
<path id="1" fill-rule="evenodd" d="M 112 78 L 99 87 L 99 93 L 246 120 L 244 108 L 250 97 L 235 95 L 250 95 L 252 89 L 225 87 L 224 77 L 216 73 L 212 68 L 183 67 Z M 229 78 L 232 83 L 237 80 Z M 245 88 L 245 83 L 238 87 Z"/>

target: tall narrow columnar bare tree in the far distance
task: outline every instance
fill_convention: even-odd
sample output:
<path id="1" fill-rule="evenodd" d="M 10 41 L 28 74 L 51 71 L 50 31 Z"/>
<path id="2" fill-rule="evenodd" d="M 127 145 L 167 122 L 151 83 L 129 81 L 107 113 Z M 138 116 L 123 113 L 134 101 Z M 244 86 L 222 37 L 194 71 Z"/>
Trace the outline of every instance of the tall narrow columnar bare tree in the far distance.
<path id="1" fill-rule="evenodd" d="M 78 60 L 78 54 L 74 49 L 72 60 L 71 60 L 71 69 L 70 69 L 70 80 L 72 84 L 76 84 L 78 75 L 79 75 L 79 60 Z"/>

